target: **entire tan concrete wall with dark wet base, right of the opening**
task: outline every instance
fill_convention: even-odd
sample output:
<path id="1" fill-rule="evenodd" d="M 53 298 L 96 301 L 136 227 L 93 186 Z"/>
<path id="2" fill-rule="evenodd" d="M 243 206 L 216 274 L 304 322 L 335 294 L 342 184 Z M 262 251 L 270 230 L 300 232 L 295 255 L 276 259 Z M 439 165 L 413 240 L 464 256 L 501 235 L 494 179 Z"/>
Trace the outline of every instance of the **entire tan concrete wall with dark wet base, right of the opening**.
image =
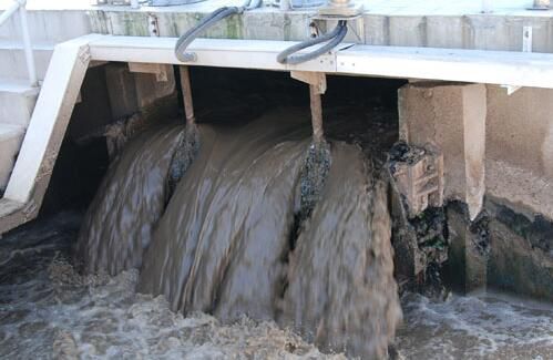
<path id="1" fill-rule="evenodd" d="M 414 82 L 399 90 L 399 116 L 402 140 L 443 153 L 447 199 L 468 205 L 447 206 L 450 280 L 553 299 L 553 90 Z M 471 188 L 485 189 L 480 215 Z"/>

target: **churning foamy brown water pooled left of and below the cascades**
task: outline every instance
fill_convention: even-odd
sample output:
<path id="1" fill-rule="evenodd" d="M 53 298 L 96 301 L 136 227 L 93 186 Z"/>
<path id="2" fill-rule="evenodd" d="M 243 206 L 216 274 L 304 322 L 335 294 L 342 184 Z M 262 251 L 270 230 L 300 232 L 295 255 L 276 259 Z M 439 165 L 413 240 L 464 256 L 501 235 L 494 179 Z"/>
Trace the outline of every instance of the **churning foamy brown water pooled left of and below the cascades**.
<path id="1" fill-rule="evenodd" d="M 83 276 L 68 261 L 80 217 L 60 214 L 0 243 L 2 359 L 340 359 L 272 321 L 183 317 L 135 291 L 137 270 Z"/>

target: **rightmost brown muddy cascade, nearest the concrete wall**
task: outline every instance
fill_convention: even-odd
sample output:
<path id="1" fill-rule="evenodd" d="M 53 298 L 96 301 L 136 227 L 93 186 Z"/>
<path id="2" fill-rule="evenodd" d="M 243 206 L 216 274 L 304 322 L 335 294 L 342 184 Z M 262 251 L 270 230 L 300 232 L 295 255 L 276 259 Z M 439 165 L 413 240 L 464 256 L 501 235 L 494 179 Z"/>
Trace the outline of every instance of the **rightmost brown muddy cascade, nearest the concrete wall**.
<path id="1" fill-rule="evenodd" d="M 335 143 L 331 154 L 290 256 L 281 322 L 321 348 L 383 358 L 401 318 L 386 187 L 357 147 Z"/>

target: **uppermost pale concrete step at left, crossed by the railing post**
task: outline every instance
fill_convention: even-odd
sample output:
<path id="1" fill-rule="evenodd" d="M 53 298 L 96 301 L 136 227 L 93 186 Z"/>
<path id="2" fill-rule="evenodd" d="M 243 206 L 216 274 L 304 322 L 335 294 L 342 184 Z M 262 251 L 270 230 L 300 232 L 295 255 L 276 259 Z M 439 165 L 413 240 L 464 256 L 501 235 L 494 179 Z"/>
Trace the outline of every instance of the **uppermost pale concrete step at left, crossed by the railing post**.
<path id="1" fill-rule="evenodd" d="M 54 44 L 34 43 L 33 54 L 39 80 L 47 74 Z M 23 47 L 16 41 L 0 40 L 0 78 L 28 79 Z"/>

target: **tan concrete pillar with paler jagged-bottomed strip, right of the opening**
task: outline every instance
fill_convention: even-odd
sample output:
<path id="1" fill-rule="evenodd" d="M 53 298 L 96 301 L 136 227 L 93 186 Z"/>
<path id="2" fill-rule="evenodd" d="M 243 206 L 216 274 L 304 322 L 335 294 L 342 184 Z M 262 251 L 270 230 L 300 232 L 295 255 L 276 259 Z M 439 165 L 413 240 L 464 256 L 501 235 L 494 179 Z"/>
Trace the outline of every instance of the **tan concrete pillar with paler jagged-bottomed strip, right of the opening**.
<path id="1" fill-rule="evenodd" d="M 400 138 L 437 146 L 443 154 L 444 197 L 482 209 L 485 155 L 485 86 L 416 82 L 399 90 Z"/>

